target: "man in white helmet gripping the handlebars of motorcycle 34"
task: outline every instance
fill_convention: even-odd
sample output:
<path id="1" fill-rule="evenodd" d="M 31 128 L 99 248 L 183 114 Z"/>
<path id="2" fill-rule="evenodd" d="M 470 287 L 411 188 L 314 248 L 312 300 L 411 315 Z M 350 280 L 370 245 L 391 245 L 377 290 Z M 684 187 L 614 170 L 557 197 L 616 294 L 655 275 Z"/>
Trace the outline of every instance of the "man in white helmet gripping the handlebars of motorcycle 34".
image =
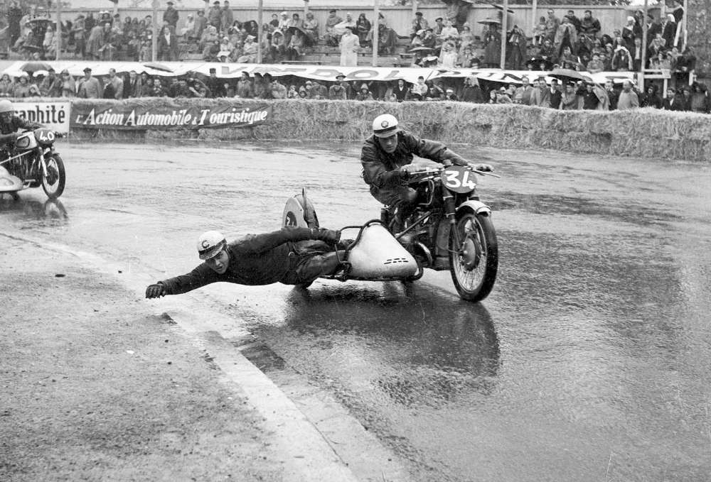
<path id="1" fill-rule="evenodd" d="M 443 165 L 469 165 L 443 143 L 419 138 L 400 128 L 395 116 L 382 114 L 373 120 L 373 135 L 365 139 L 360 153 L 363 180 L 370 194 L 395 211 L 395 232 L 415 207 L 417 191 L 407 185 L 410 172 L 417 170 L 412 157 L 434 160 Z M 491 165 L 472 165 L 476 170 L 491 171 Z"/>

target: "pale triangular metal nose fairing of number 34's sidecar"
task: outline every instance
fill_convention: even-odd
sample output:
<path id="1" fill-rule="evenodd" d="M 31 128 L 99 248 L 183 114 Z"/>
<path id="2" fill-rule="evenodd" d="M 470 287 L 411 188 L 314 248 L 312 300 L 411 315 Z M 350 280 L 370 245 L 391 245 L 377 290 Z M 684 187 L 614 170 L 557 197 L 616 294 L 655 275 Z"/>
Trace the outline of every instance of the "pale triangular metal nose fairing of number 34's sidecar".
<path id="1" fill-rule="evenodd" d="M 348 278 L 367 280 L 409 278 L 417 273 L 417 261 L 392 237 L 380 221 L 368 221 L 348 251 Z"/>

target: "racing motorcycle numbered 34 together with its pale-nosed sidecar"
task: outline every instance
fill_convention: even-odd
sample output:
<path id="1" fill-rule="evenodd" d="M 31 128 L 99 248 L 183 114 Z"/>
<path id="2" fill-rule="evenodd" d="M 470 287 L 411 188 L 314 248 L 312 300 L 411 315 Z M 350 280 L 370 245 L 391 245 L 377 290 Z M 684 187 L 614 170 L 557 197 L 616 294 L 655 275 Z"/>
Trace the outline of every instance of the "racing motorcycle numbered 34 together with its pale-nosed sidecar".
<path id="1" fill-rule="evenodd" d="M 499 177 L 457 165 L 411 171 L 415 209 L 397 222 L 396 209 L 385 207 L 380 219 L 343 227 L 358 234 L 346 246 L 343 270 L 322 278 L 409 282 L 422 278 L 424 268 L 449 270 L 459 297 L 486 298 L 496 282 L 498 242 L 491 208 L 475 192 L 476 175 Z M 282 226 L 319 226 L 305 190 L 287 201 Z"/>

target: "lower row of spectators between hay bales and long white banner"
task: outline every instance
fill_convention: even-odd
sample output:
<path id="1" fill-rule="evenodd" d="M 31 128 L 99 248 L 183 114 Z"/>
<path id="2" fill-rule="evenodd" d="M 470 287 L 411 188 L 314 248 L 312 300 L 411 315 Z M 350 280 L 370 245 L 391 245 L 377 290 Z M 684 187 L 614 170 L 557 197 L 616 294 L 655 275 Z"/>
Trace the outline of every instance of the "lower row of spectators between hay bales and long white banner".
<path id="1" fill-rule="evenodd" d="M 620 88 L 621 87 L 621 88 Z M 709 113 L 711 103 L 705 84 L 693 82 L 680 89 L 670 87 L 665 95 L 657 84 L 650 84 L 639 92 L 631 81 L 619 85 L 610 80 L 603 86 L 594 82 L 566 81 L 546 77 L 523 77 L 521 84 L 502 84 L 479 80 L 471 75 L 464 79 L 437 78 L 417 82 L 405 80 L 370 81 L 346 80 L 338 75 L 334 81 L 309 80 L 296 76 L 250 75 L 242 72 L 238 79 L 217 76 L 216 69 L 209 75 L 190 72 L 184 76 L 151 76 L 132 71 L 93 77 L 74 78 L 67 71 L 53 70 L 42 75 L 21 75 L 16 81 L 5 74 L 0 78 L 0 97 L 83 97 L 89 99 L 130 99 L 137 97 L 231 97 L 237 99 L 331 99 L 381 100 L 388 102 L 458 101 L 488 104 L 519 104 L 550 109 L 624 110 L 653 107 L 673 111 Z"/>

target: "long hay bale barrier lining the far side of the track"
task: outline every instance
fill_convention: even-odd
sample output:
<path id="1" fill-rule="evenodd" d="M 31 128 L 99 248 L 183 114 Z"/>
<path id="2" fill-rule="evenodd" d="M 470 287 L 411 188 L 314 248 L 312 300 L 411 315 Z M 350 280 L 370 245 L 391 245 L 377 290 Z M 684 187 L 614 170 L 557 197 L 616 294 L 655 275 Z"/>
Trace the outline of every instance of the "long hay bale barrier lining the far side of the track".
<path id="1" fill-rule="evenodd" d="M 656 109 L 630 111 L 555 111 L 512 104 L 464 102 L 355 102 L 279 99 L 73 99 L 95 106 L 185 107 L 257 106 L 271 103 L 264 124 L 171 130 L 122 130 L 73 127 L 82 140 L 166 141 L 199 138 L 214 141 L 296 140 L 362 141 L 378 114 L 393 114 L 410 131 L 445 143 L 494 148 L 555 149 L 638 158 L 708 161 L 711 159 L 711 116 Z M 123 105 L 118 105 L 123 104 Z"/>

